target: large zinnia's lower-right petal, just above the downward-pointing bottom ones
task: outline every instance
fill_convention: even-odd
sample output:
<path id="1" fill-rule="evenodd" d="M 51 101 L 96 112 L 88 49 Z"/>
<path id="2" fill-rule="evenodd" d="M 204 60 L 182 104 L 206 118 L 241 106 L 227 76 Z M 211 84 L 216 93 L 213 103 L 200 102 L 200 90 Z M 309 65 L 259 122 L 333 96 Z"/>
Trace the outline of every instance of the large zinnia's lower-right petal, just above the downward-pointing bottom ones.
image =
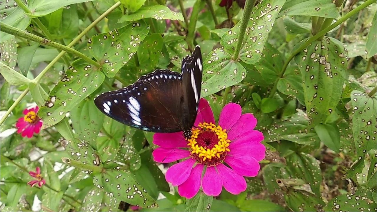
<path id="1" fill-rule="evenodd" d="M 239 175 L 245 177 L 255 177 L 258 175 L 261 166 L 255 158 L 251 157 L 249 154 L 244 154 L 243 157 L 238 156 L 236 157 L 229 154 L 224 161 Z"/>

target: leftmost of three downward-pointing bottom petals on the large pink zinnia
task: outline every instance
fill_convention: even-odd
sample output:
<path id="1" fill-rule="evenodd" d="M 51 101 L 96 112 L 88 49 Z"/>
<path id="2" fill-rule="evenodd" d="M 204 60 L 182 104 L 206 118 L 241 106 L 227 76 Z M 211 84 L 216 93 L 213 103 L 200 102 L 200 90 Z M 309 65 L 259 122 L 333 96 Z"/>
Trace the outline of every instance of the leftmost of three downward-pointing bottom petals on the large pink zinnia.
<path id="1" fill-rule="evenodd" d="M 181 197 L 190 199 L 198 193 L 203 167 L 203 164 L 196 164 L 191 171 L 190 177 L 178 186 L 178 194 L 181 195 Z"/>

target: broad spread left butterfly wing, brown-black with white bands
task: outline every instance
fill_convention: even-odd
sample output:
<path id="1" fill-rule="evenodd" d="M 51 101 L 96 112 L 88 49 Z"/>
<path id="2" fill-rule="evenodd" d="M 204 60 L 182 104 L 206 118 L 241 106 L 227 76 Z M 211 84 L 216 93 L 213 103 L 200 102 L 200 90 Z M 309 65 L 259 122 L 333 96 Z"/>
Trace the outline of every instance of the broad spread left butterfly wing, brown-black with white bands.
<path id="1" fill-rule="evenodd" d="M 149 132 L 179 132 L 181 98 L 182 75 L 156 69 L 126 88 L 99 95 L 94 103 L 105 115 L 128 126 Z"/>

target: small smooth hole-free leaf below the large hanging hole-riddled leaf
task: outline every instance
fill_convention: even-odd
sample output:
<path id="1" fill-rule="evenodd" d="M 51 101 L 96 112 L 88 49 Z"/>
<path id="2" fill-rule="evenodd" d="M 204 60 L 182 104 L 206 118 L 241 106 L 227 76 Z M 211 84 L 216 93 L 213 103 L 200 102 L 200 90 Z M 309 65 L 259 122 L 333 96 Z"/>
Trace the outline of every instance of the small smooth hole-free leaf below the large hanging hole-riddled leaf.
<path id="1" fill-rule="evenodd" d="M 323 144 L 332 151 L 339 152 L 340 134 L 336 124 L 318 124 L 314 129 Z"/>

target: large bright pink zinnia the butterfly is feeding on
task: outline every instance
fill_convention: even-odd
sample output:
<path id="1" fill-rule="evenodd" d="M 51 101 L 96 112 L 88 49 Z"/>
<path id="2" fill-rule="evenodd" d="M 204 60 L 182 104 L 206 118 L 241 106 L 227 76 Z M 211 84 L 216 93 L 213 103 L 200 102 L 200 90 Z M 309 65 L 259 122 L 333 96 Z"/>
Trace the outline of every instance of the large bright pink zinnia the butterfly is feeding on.
<path id="1" fill-rule="evenodd" d="M 218 196 L 223 186 L 231 194 L 239 194 L 246 190 L 243 176 L 255 177 L 260 169 L 258 161 L 265 157 L 264 137 L 254 130 L 256 124 L 252 114 L 242 115 L 239 104 L 229 103 L 216 125 L 212 109 L 201 98 L 194 124 L 198 128 L 192 128 L 191 138 L 186 140 L 182 132 L 154 134 L 153 143 L 160 147 L 153 151 L 153 159 L 159 163 L 184 159 L 171 166 L 165 176 L 178 186 L 182 197 L 194 197 L 200 187 L 208 196 Z"/>

